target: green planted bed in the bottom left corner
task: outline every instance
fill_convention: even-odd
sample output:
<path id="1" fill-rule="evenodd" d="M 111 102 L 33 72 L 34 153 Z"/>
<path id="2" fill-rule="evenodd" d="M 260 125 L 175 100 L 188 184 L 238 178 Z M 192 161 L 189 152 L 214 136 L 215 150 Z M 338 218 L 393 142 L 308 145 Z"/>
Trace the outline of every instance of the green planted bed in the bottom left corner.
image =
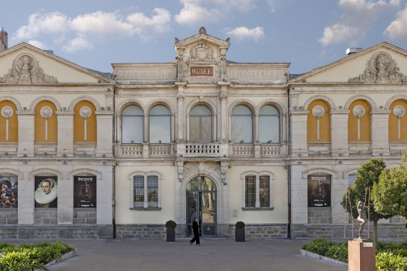
<path id="1" fill-rule="evenodd" d="M 46 270 L 48 262 L 71 251 L 75 249 L 59 241 L 38 242 L 33 245 L 0 243 L 0 270 Z"/>

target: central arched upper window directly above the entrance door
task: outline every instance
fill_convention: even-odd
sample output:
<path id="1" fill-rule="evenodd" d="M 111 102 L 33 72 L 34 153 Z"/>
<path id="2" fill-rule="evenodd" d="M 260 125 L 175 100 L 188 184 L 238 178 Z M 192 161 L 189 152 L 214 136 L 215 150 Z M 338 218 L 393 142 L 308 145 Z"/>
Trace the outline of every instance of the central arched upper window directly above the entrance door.
<path id="1" fill-rule="evenodd" d="M 212 112 L 206 106 L 195 106 L 190 113 L 190 140 L 212 141 Z"/>

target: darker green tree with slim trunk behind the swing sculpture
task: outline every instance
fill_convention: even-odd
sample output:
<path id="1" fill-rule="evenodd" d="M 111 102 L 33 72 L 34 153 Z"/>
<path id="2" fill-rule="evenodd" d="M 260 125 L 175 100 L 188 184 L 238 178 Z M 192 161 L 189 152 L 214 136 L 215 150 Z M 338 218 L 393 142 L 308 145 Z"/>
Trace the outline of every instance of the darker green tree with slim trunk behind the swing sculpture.
<path id="1" fill-rule="evenodd" d="M 358 217 L 357 205 L 359 200 L 364 202 L 366 195 L 366 188 L 368 188 L 368 193 L 366 195 L 366 205 L 368 205 L 369 188 L 373 188 L 375 183 L 378 183 L 378 176 L 381 172 L 386 169 L 386 163 L 383 159 L 371 159 L 365 163 L 361 164 L 358 169 L 358 173 L 354 179 L 354 185 L 349 188 L 349 200 L 352 206 L 352 215 L 356 219 Z M 349 206 L 349 200 L 347 205 Z M 346 206 L 346 194 L 343 196 L 341 205 L 345 208 Z M 368 211 L 366 210 L 366 216 Z M 373 240 L 377 242 L 377 222 L 378 220 L 384 218 L 391 218 L 392 215 L 383 215 L 374 210 L 374 204 L 370 203 L 369 217 L 370 221 L 373 221 Z"/>

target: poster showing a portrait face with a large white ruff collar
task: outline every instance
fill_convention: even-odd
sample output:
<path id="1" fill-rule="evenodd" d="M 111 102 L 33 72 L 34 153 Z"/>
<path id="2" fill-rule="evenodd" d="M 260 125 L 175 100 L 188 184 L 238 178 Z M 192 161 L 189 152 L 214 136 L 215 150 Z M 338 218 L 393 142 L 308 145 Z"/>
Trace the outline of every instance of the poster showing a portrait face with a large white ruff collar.
<path id="1" fill-rule="evenodd" d="M 34 200 L 36 208 L 58 207 L 58 183 L 56 176 L 36 176 Z"/>

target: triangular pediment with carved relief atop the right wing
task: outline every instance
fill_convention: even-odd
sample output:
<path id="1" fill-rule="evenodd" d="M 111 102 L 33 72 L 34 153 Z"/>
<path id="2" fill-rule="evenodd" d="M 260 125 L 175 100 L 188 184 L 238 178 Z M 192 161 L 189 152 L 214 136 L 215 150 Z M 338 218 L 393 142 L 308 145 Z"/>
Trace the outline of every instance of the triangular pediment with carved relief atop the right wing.
<path id="1" fill-rule="evenodd" d="M 382 42 L 315 68 L 290 83 L 406 83 L 407 51 Z"/>

